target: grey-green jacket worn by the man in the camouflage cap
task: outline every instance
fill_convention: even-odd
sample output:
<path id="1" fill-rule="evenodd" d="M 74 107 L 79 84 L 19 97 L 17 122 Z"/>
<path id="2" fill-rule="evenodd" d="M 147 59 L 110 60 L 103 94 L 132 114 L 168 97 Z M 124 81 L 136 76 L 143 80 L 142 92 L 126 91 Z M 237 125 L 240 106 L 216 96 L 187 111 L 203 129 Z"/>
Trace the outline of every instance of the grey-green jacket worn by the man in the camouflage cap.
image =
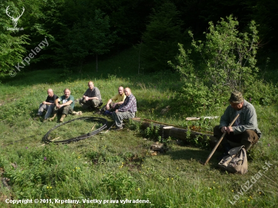
<path id="1" fill-rule="evenodd" d="M 231 108 L 231 106 L 228 106 L 220 118 L 220 125 L 219 128 L 223 126 L 228 126 L 231 121 L 236 117 L 237 110 Z M 240 113 L 240 126 L 234 126 L 233 130 L 234 134 L 241 134 L 246 130 L 253 130 L 257 133 L 258 138 L 261 138 L 261 131 L 258 129 L 258 121 L 257 121 L 257 114 L 254 106 L 250 103 L 244 100 L 242 112 Z"/>

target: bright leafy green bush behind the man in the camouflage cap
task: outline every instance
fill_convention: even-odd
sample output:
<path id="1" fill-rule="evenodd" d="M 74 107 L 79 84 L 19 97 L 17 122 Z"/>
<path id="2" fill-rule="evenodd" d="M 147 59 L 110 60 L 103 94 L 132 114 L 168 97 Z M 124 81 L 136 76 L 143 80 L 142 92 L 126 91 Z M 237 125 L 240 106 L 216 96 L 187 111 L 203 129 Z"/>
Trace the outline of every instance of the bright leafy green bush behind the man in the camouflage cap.
<path id="1" fill-rule="evenodd" d="M 198 109 L 211 103 L 221 103 L 233 90 L 244 92 L 257 78 L 256 52 L 258 36 L 255 22 L 250 31 L 239 33 L 238 21 L 229 16 L 215 26 L 209 23 L 205 41 L 192 41 L 192 47 L 200 53 L 199 64 L 194 66 L 190 58 L 192 50 L 184 50 L 179 44 L 178 65 L 171 66 L 180 72 L 184 87 L 180 99 Z M 189 32 L 193 38 L 193 33 Z"/>

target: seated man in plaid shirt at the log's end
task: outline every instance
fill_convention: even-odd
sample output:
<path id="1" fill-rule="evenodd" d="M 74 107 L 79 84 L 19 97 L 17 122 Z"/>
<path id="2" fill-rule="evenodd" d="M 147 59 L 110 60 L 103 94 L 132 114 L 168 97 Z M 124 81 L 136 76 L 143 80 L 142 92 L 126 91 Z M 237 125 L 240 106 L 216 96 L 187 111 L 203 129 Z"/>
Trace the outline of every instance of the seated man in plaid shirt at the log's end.
<path id="1" fill-rule="evenodd" d="M 120 105 L 119 109 L 112 114 L 116 123 L 116 131 L 123 129 L 123 119 L 134 118 L 135 112 L 137 111 L 136 99 L 128 87 L 124 89 L 124 94 L 126 95 L 124 102 Z"/>

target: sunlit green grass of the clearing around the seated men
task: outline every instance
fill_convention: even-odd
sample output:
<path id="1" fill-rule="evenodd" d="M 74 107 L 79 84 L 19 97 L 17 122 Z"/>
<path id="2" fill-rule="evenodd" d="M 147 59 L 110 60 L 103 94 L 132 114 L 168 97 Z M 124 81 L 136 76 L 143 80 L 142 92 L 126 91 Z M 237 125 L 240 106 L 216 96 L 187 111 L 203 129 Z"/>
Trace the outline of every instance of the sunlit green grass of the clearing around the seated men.
<path id="1" fill-rule="evenodd" d="M 182 85 L 178 75 L 170 72 L 137 75 L 137 51 L 129 49 L 100 61 L 99 72 L 95 64 L 86 65 L 82 74 L 76 69 L 65 77 L 63 69 L 50 69 L 18 73 L 0 84 L 0 177 L 10 178 L 11 189 L 0 187 L 0 207 L 23 207 L 8 204 L 9 199 L 79 199 L 79 204 L 31 203 L 27 207 L 276 207 L 277 177 L 277 106 L 255 106 L 260 142 L 249 152 L 248 173 L 229 174 L 217 168 L 215 152 L 209 164 L 203 166 L 211 149 L 197 148 L 193 144 L 177 145 L 168 142 L 169 150 L 151 156 L 152 140 L 136 122 L 127 123 L 121 132 L 109 131 L 64 145 L 43 145 L 42 137 L 58 125 L 35 119 L 39 103 L 45 100 L 47 89 L 57 95 L 68 87 L 74 98 L 80 98 L 93 80 L 104 102 L 117 93 L 117 87 L 130 87 L 137 99 L 137 117 L 187 127 L 201 125 L 212 130 L 219 119 L 187 122 L 186 117 L 221 116 L 225 105 L 202 114 L 180 112 L 174 102 L 174 93 Z M 109 74 L 109 76 L 108 76 Z M 165 115 L 160 111 L 170 105 Z M 77 104 L 75 111 L 81 110 Z M 83 112 L 82 116 L 94 116 Z M 100 116 L 108 120 L 111 117 Z M 78 118 L 67 116 L 64 121 Z M 71 138 L 90 131 L 94 122 L 74 121 L 59 127 L 51 138 Z M 97 126 L 96 126 L 97 128 Z M 95 129 L 96 129 L 95 128 Z M 22 140 L 20 140 L 22 139 Z M 20 141 L 18 141 L 20 140 Z M 17 141 L 17 142 L 15 142 Z M 13 144 L 9 144 L 15 142 Z M 273 164 L 263 170 L 265 162 Z M 17 165 L 14 168 L 11 164 Z M 243 193 L 241 186 L 259 171 L 263 176 Z M 244 186 L 243 186 L 244 187 Z M 237 202 L 232 205 L 230 201 Z M 82 199 L 108 200 L 107 203 L 83 203 Z M 110 199 L 118 200 L 113 203 Z M 120 200 L 142 199 L 151 203 L 125 203 Z M 249 199 L 249 200 L 248 200 Z M 115 201 L 114 201 L 115 202 Z"/>

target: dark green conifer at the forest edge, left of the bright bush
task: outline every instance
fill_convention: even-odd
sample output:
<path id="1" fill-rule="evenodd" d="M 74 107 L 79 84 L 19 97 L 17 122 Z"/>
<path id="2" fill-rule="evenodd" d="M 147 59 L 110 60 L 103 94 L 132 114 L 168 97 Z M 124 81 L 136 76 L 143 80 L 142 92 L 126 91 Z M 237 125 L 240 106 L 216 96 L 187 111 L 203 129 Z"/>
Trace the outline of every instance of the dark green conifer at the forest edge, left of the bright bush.
<path id="1" fill-rule="evenodd" d="M 157 71 L 168 67 L 178 52 L 177 43 L 182 41 L 180 13 L 174 4 L 166 2 L 153 10 L 150 23 L 143 34 L 142 57 L 145 68 Z"/>

